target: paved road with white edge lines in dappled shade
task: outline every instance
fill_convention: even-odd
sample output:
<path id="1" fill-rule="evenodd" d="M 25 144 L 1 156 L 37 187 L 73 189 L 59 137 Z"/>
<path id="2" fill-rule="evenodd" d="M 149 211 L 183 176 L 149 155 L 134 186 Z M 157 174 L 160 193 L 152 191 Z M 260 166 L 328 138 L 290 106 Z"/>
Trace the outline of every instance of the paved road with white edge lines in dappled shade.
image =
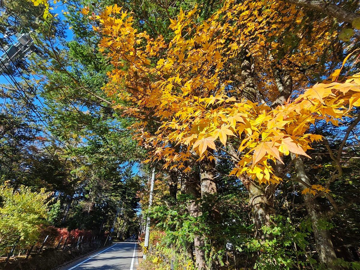
<path id="1" fill-rule="evenodd" d="M 111 246 L 68 266 L 67 270 L 136 270 L 138 245 L 134 242 L 113 243 Z"/>

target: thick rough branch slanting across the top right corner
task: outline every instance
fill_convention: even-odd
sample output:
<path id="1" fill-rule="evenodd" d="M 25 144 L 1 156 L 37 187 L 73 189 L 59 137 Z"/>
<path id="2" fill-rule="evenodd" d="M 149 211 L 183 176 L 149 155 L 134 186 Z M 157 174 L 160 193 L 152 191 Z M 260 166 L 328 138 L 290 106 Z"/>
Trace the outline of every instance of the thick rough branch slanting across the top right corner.
<path id="1" fill-rule="evenodd" d="M 324 0 L 282 0 L 285 3 L 295 4 L 308 9 L 314 9 L 324 14 L 330 15 L 343 22 L 352 23 L 360 18 L 360 14 L 343 9 L 341 6 L 327 3 Z"/>

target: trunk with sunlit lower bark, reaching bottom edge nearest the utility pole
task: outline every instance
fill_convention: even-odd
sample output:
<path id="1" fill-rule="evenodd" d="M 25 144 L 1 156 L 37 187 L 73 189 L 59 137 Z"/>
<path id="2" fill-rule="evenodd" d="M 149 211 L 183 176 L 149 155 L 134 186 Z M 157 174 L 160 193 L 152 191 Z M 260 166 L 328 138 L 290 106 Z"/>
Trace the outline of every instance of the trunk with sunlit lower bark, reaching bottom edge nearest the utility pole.
<path id="1" fill-rule="evenodd" d="M 202 215 L 201 205 L 199 202 L 201 199 L 201 182 L 198 174 L 194 174 L 192 179 L 186 179 L 186 194 L 192 196 L 188 202 L 189 215 L 194 218 L 198 218 Z M 199 270 L 208 269 L 205 261 L 204 245 L 203 235 L 195 235 L 195 262 Z"/>

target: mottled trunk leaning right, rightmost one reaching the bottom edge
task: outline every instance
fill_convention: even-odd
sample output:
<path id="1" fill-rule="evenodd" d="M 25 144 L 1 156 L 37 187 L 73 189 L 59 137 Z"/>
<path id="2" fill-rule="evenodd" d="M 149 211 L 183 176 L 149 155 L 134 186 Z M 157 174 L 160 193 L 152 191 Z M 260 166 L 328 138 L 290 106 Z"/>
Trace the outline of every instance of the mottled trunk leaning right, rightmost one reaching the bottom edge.
<path id="1" fill-rule="evenodd" d="M 301 157 L 296 157 L 295 154 L 291 154 L 291 157 L 294 161 L 296 177 L 302 180 L 302 182 L 306 183 L 308 186 L 311 186 L 310 179 L 306 174 L 305 166 Z M 307 186 L 303 183 L 299 183 L 299 186 L 301 189 L 307 188 Z M 312 229 L 314 230 L 316 247 L 319 253 L 319 261 L 322 264 L 325 264 L 327 266 L 327 269 L 338 269 L 333 266 L 333 262 L 334 260 L 336 260 L 336 254 L 331 240 L 330 232 L 329 230 L 322 229 L 318 226 L 319 220 L 323 218 L 321 206 L 318 200 L 316 200 L 316 198 L 314 198 L 314 196 L 309 193 L 304 194 L 303 199 L 305 202 L 306 210 L 312 222 Z"/>

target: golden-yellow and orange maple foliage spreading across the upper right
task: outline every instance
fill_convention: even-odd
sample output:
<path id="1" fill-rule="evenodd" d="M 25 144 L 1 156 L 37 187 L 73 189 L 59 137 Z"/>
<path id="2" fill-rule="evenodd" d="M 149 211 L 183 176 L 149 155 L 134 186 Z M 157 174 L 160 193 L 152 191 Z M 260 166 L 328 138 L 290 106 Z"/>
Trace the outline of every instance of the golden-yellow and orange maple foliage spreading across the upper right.
<path id="1" fill-rule="evenodd" d="M 278 183 L 271 164 L 282 163 L 290 152 L 307 156 L 311 143 L 321 139 L 307 133 L 315 120 L 337 125 L 360 102 L 360 74 L 308 88 L 297 69 L 326 54 L 334 34 L 322 20 L 314 26 L 316 33 L 304 38 L 302 17 L 301 10 L 280 1 L 227 0 L 202 22 L 197 7 L 181 10 L 171 19 L 172 40 L 165 41 L 138 32 L 131 13 L 108 6 L 96 16 L 100 28 L 94 28 L 102 34 L 100 51 L 115 67 L 104 90 L 130 104 L 116 104 L 117 109 L 141 120 L 132 128 L 149 148 L 149 161 L 161 159 L 165 168 L 190 171 L 189 160 L 215 159 L 212 150 L 221 148 L 237 164 L 231 174 Z M 287 50 L 282 40 L 287 31 L 294 33 L 296 50 Z M 278 95 L 270 66 L 292 67 L 292 100 L 270 107 L 244 99 L 244 84 L 238 83 L 246 80 L 239 64 L 244 51 L 260 63 L 257 71 L 264 77 L 257 87 L 270 103 Z M 275 52 L 284 54 L 276 63 L 269 57 Z M 150 132 L 153 122 L 156 131 Z"/>

